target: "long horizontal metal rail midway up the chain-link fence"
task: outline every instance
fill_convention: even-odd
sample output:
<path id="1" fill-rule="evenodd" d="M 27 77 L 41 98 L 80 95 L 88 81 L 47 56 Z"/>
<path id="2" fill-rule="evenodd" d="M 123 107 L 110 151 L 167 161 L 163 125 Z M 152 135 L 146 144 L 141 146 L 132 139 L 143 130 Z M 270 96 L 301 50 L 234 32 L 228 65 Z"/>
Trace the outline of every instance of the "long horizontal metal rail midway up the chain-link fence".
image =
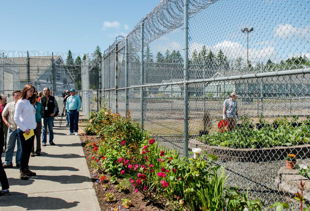
<path id="1" fill-rule="evenodd" d="M 141 87 L 157 87 L 157 86 L 170 86 L 170 85 L 180 85 L 180 84 L 191 84 L 191 83 L 204 83 L 204 82 L 214 82 L 214 81 L 231 81 L 231 80 L 242 80 L 242 79 L 258 79 L 258 78 L 268 78 L 275 76 L 286 76 L 286 75 L 300 75 L 300 74 L 310 74 L 310 68 L 295 69 L 295 70 L 281 70 L 268 73 L 255 73 L 255 74 L 245 74 L 245 75 L 236 75 L 236 76 L 227 76 L 219 78 L 210 78 L 210 79 L 197 79 L 189 81 L 178 81 L 170 83 L 153 83 L 138 85 L 132 87 L 118 88 L 117 90 L 123 89 L 135 89 Z M 104 89 L 104 91 L 115 90 L 115 88 Z"/>

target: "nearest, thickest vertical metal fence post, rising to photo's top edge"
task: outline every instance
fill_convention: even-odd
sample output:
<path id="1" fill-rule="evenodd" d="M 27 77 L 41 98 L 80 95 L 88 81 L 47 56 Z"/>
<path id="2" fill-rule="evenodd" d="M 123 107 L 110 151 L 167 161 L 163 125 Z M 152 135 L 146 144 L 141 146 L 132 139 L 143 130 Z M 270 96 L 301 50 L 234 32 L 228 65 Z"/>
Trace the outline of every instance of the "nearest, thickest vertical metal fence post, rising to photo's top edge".
<path id="1" fill-rule="evenodd" d="M 184 0 L 184 156 L 188 158 L 188 0 Z"/>

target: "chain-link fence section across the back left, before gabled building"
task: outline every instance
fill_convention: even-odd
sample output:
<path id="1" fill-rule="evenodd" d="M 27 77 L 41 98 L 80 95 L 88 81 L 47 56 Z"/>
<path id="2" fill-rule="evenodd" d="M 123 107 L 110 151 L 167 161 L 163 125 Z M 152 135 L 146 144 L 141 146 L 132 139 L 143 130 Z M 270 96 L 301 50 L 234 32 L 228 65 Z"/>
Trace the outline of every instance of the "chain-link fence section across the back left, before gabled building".
<path id="1" fill-rule="evenodd" d="M 21 90 L 25 84 L 32 83 L 38 92 L 42 92 L 44 87 L 51 90 L 60 112 L 64 111 L 64 94 L 71 88 L 76 89 L 82 100 L 80 119 L 88 118 L 91 110 L 99 109 L 98 55 L 36 51 L 0 51 L 0 54 L 0 93 L 7 97 L 7 102 L 13 101 L 14 90 Z M 61 116 L 56 119 L 59 118 Z"/>

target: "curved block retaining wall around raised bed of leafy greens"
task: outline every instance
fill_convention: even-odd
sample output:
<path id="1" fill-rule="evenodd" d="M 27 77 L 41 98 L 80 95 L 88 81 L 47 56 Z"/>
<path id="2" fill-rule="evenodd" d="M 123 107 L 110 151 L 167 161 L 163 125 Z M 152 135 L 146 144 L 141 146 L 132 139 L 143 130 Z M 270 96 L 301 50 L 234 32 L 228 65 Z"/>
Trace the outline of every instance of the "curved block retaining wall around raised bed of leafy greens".
<path id="1" fill-rule="evenodd" d="M 284 160 L 286 155 L 294 154 L 298 159 L 310 157 L 310 144 L 297 146 L 275 146 L 273 148 L 263 147 L 260 149 L 235 149 L 224 146 L 209 146 L 197 139 L 188 141 L 188 148 L 201 148 L 208 154 L 216 155 L 221 161 L 235 162 L 268 162 Z"/>

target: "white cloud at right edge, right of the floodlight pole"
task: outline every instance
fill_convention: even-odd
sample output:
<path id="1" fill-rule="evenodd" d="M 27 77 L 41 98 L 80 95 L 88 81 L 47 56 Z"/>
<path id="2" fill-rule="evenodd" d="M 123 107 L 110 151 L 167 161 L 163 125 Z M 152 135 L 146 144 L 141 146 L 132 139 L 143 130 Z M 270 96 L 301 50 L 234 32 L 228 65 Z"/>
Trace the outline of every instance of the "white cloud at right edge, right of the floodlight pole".
<path id="1" fill-rule="evenodd" d="M 300 42 L 308 42 L 310 39 L 310 25 L 294 27 L 291 24 L 279 24 L 274 29 L 274 36 L 283 40 L 297 39 Z"/>

